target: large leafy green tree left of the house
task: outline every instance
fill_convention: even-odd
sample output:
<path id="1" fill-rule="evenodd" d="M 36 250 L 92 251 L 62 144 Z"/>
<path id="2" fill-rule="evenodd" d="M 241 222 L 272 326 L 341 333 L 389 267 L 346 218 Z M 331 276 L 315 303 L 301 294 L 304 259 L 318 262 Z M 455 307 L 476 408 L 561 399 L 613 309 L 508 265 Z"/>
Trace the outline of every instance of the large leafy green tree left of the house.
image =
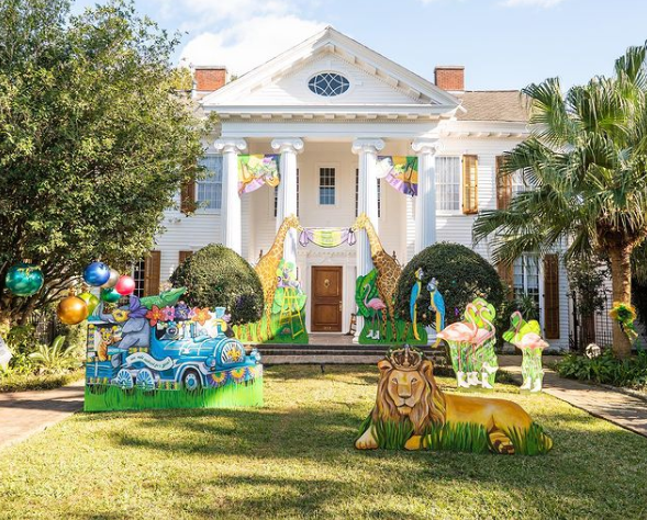
<path id="1" fill-rule="evenodd" d="M 0 323 L 24 323 L 83 267 L 125 269 L 200 174 L 208 123 L 176 95 L 178 39 L 115 0 L 71 15 L 67 0 L 0 2 Z M 32 297 L 8 269 L 38 264 Z"/>

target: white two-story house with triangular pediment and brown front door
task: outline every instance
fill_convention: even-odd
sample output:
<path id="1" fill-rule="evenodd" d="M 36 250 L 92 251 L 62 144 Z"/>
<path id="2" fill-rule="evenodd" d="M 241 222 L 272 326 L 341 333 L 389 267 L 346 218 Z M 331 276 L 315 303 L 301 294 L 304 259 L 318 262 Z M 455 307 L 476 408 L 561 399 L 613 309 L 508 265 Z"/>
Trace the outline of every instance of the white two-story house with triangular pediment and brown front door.
<path id="1" fill-rule="evenodd" d="M 194 214 L 168 212 L 157 250 L 137 270 L 142 290 L 144 280 L 157 289 L 210 242 L 256 262 L 292 213 L 306 227 L 348 227 L 365 212 L 403 264 L 435 241 L 472 248 L 478 212 L 502 207 L 524 188 L 497 174 L 499 158 L 528 135 L 518 91 L 466 90 L 462 67 L 436 67 L 432 82 L 326 27 L 234 81 L 224 67 L 196 67 L 194 78 L 202 110 L 221 121 L 205 152 L 211 176 L 187 192 L 200 204 Z M 280 154 L 278 188 L 239 196 L 238 154 Z M 378 156 L 417 156 L 417 196 L 377 178 Z M 309 296 L 308 329 L 347 331 L 355 280 L 371 267 L 364 236 L 355 246 L 322 249 L 301 247 L 291 235 L 285 247 Z M 487 244 L 473 248 L 489 258 Z M 566 348 L 560 262 L 527 256 L 502 274 L 537 299 L 550 343 Z M 332 283 L 325 294 L 320 279 Z"/>

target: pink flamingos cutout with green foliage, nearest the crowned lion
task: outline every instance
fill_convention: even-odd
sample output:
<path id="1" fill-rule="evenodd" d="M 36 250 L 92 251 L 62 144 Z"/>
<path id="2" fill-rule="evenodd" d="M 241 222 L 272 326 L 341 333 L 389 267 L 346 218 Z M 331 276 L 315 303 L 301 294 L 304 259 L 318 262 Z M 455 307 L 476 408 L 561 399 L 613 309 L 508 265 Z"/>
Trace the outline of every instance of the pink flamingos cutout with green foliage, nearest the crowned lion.
<path id="1" fill-rule="evenodd" d="M 458 388 L 494 387 L 499 370 L 494 317 L 494 307 L 483 298 L 476 298 L 467 305 L 462 321 L 438 332 L 438 338 L 449 346 Z"/>

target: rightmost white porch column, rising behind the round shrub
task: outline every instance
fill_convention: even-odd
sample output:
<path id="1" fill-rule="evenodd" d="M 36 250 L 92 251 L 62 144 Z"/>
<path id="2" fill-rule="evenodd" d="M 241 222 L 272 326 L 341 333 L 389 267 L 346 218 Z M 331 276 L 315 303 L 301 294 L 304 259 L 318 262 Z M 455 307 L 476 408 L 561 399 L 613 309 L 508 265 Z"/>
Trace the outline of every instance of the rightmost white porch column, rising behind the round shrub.
<path id="1" fill-rule="evenodd" d="M 436 152 L 437 139 L 415 139 L 417 154 L 417 196 L 415 197 L 415 249 L 419 253 L 436 242 Z"/>

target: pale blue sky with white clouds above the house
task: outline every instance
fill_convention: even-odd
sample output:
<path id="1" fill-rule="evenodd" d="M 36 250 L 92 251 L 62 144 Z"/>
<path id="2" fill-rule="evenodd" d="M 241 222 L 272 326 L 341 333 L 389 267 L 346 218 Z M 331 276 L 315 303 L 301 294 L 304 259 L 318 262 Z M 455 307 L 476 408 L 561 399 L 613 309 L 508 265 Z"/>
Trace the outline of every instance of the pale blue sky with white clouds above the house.
<path id="1" fill-rule="evenodd" d="M 77 0 L 75 11 L 96 3 Z M 135 0 L 182 32 L 175 59 L 242 75 L 326 25 L 433 80 L 465 66 L 467 90 L 568 88 L 609 75 L 647 39 L 647 0 Z"/>

